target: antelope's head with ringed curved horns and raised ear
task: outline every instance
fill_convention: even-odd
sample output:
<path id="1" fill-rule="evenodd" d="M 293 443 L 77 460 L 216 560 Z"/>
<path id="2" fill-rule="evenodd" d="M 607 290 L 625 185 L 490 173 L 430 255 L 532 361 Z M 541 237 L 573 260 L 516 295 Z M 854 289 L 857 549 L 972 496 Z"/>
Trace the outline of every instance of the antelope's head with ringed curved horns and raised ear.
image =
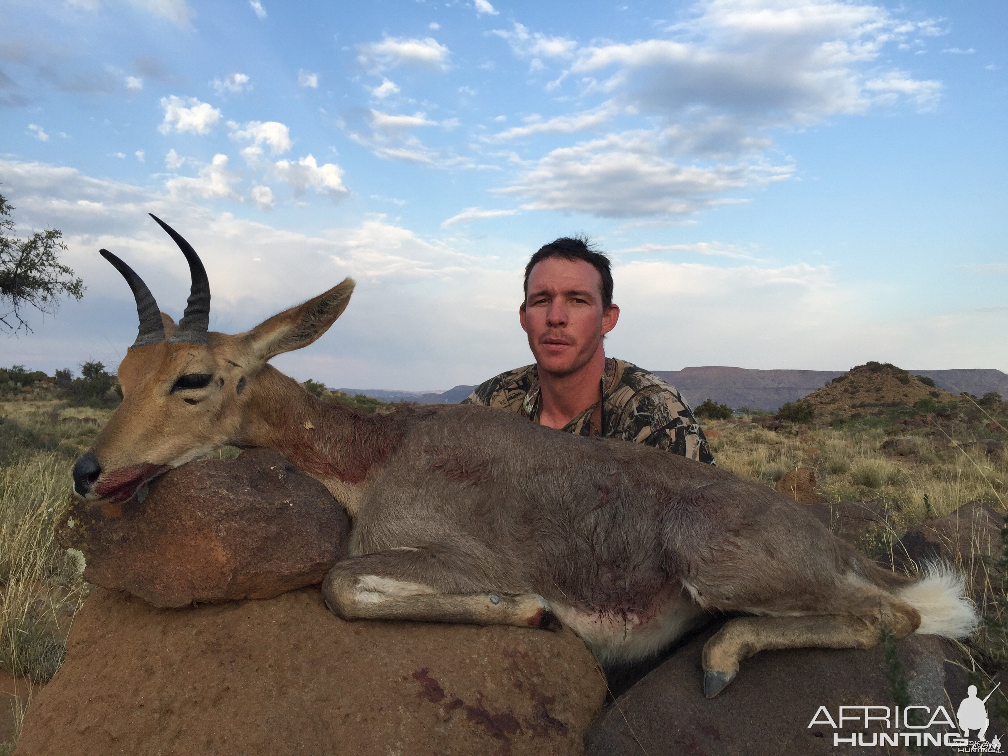
<path id="1" fill-rule="evenodd" d="M 270 358 L 321 337 L 350 301 L 354 281 L 284 310 L 244 334 L 218 334 L 210 325 L 210 283 L 193 247 L 151 216 L 188 261 L 193 286 L 176 326 L 146 284 L 108 250 L 102 256 L 122 273 L 140 317 L 136 342 L 119 365 L 123 400 L 88 453 L 74 466 L 74 492 L 86 500 L 126 501 L 153 478 L 229 443 L 240 443 L 250 401 Z M 252 398 L 257 397 L 257 398 Z"/>

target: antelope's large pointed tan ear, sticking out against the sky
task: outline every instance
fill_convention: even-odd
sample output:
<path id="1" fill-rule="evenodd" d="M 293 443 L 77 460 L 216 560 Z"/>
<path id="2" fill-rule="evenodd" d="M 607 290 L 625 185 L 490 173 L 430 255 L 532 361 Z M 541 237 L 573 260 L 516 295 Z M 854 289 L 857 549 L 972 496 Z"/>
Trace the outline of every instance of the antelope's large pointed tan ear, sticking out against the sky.
<path id="1" fill-rule="evenodd" d="M 353 278 L 345 278 L 326 293 L 263 321 L 245 335 L 250 357 L 266 362 L 278 354 L 311 344 L 343 314 L 354 285 Z"/>

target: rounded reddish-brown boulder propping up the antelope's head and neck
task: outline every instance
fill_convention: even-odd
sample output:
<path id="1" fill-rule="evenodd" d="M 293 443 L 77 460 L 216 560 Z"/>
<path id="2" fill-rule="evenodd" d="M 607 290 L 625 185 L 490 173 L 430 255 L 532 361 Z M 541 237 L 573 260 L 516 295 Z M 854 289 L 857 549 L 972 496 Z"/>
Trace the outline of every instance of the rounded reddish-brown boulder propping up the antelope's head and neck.
<path id="1" fill-rule="evenodd" d="M 346 556 L 349 519 L 326 487 L 276 452 L 192 462 L 142 503 L 75 501 L 56 526 L 89 583 L 155 607 L 269 599 L 322 582 Z"/>

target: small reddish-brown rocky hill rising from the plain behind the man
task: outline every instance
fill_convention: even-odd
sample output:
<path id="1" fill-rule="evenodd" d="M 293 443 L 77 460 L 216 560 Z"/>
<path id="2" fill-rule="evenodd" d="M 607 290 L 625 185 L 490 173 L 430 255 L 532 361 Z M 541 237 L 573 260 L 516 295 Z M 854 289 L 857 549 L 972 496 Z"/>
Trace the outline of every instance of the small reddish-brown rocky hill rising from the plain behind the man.
<path id="1" fill-rule="evenodd" d="M 869 362 L 851 368 L 804 397 L 820 419 L 884 416 L 900 407 L 933 412 L 955 405 L 958 397 L 924 376 L 913 375 L 889 363 Z"/>

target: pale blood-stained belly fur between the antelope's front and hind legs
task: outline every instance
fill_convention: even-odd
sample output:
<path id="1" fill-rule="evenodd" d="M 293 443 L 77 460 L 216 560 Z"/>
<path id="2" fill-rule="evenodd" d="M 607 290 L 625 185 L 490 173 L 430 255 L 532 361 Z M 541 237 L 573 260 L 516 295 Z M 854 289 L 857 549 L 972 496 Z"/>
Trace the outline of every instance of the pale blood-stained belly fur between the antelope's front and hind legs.
<path id="1" fill-rule="evenodd" d="M 708 616 L 681 591 L 653 612 L 585 609 L 558 602 L 551 602 L 551 608 L 603 664 L 653 656 Z"/>

